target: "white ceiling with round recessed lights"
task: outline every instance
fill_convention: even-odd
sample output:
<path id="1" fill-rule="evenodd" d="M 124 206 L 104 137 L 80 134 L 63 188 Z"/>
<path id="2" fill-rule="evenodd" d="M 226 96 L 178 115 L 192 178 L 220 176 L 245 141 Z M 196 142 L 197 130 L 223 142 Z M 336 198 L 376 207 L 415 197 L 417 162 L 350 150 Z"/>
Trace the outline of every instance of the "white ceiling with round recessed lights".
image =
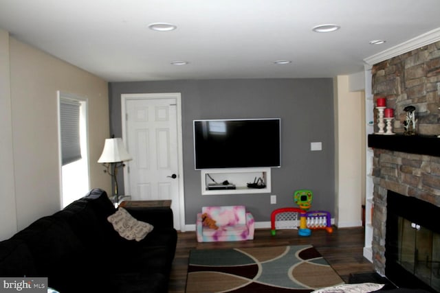
<path id="1" fill-rule="evenodd" d="M 439 0 L 0 0 L 1 29 L 109 82 L 351 74 L 439 16 Z"/>

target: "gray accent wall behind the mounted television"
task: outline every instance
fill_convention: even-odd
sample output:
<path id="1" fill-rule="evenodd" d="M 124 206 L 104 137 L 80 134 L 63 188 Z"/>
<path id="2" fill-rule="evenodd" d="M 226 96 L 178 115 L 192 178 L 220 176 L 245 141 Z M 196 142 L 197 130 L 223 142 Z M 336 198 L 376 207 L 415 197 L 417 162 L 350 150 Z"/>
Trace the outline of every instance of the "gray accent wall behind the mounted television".
<path id="1" fill-rule="evenodd" d="M 256 222 L 270 221 L 281 207 L 296 207 L 297 189 L 311 189 L 311 210 L 335 212 L 335 147 L 333 80 L 243 79 L 112 82 L 109 84 L 110 133 L 122 136 L 121 95 L 124 93 L 181 93 L 186 224 L 195 224 L 201 207 L 244 204 Z M 194 167 L 194 119 L 281 118 L 282 158 L 272 169 L 270 194 L 201 195 L 200 171 Z M 262 135 L 262 139 L 263 135 Z M 311 151 L 311 142 L 322 142 Z M 120 172 L 122 173 L 122 172 Z M 120 178 L 120 190 L 123 180 Z M 277 203 L 270 204 L 270 195 Z"/>

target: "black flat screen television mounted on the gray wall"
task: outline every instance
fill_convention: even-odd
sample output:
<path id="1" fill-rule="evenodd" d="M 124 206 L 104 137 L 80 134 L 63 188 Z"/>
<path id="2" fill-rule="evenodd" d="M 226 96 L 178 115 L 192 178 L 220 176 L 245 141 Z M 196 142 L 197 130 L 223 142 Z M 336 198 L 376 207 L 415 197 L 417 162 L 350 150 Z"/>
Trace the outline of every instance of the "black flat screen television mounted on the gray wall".
<path id="1" fill-rule="evenodd" d="M 195 169 L 281 167 L 281 119 L 195 120 Z"/>

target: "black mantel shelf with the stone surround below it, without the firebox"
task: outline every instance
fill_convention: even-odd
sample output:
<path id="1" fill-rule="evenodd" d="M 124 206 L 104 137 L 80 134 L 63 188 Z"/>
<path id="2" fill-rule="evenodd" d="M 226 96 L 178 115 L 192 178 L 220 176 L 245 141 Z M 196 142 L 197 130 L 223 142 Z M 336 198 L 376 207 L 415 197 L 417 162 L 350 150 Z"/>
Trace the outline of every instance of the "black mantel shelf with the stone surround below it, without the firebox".
<path id="1" fill-rule="evenodd" d="M 386 275 L 387 193 L 394 191 L 440 209 L 440 138 L 370 134 L 373 148 L 373 265 Z"/>

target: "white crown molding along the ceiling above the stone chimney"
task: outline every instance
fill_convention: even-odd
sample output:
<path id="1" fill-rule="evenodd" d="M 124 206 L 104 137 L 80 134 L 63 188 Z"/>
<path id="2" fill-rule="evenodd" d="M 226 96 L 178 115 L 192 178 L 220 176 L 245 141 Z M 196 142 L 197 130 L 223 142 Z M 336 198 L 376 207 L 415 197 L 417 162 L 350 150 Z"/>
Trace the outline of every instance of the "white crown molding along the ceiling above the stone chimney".
<path id="1" fill-rule="evenodd" d="M 438 40 L 440 40 L 440 27 L 431 30 L 430 32 L 426 32 L 425 34 L 421 34 L 420 36 L 416 36 L 415 38 L 407 40 L 404 43 L 386 49 L 385 51 L 377 53 L 373 56 L 367 57 L 364 59 L 364 62 L 366 63 L 366 65 L 373 66 L 384 60 L 388 60 L 414 49 L 418 49 L 420 47 L 435 43 Z"/>

